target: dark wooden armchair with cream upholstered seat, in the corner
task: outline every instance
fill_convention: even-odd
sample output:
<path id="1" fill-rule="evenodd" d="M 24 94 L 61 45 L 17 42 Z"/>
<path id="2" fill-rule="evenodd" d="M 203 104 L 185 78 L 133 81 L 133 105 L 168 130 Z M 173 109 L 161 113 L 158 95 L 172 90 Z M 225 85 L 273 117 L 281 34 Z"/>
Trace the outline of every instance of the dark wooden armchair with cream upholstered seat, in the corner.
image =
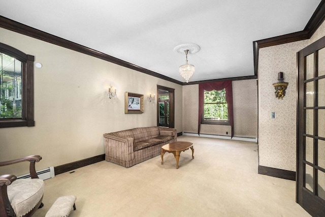
<path id="1" fill-rule="evenodd" d="M 35 163 L 41 156 L 28 156 L 0 162 L 0 166 L 29 161 L 31 179 L 17 179 L 15 175 L 0 175 L 0 216 L 31 216 L 43 206 L 44 182 L 39 179 Z"/>

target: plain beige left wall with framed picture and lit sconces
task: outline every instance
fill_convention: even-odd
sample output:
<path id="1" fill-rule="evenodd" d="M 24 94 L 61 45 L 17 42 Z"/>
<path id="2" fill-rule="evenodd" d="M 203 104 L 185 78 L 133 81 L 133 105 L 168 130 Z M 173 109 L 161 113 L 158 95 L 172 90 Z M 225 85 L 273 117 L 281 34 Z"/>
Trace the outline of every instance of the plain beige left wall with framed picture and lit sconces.
<path id="1" fill-rule="evenodd" d="M 182 86 L 0 28 L 0 42 L 35 56 L 35 127 L 0 129 L 0 161 L 39 154 L 37 169 L 104 153 L 103 134 L 156 126 L 156 85 L 175 89 L 175 128 L 182 132 Z M 107 98 L 109 85 L 117 100 Z M 124 114 L 124 93 L 144 95 L 143 114 Z M 24 167 L 24 168 L 21 168 Z M 14 174 L 25 165 L 2 167 Z M 17 175 L 18 175 L 17 174 Z"/>

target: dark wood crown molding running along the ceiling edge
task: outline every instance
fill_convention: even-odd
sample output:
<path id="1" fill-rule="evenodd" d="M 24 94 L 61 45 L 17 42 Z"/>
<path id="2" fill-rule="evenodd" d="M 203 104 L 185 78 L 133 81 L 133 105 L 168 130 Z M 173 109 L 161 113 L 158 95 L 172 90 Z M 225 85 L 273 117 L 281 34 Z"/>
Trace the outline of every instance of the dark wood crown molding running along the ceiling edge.
<path id="1" fill-rule="evenodd" d="M 85 47 L 83 45 L 71 42 L 66 39 L 62 39 L 60 37 L 45 33 L 39 29 L 27 26 L 25 24 L 19 23 L 17 21 L 11 20 L 9 18 L 0 16 L 0 27 L 11 30 L 13 32 L 29 36 L 35 39 L 39 39 L 51 44 L 55 44 L 64 48 L 68 48 L 80 53 L 84 53 L 86 55 L 90 55 L 96 58 L 103 59 L 105 61 L 109 61 L 110 63 L 126 67 L 132 70 L 136 70 L 138 72 L 145 73 L 147 75 L 151 75 L 160 79 L 164 79 L 176 84 L 180 85 L 189 85 L 189 84 L 198 84 L 198 83 L 206 83 L 213 81 L 223 81 L 223 80 L 246 80 L 246 79 L 256 79 L 257 71 L 258 71 L 258 50 L 259 48 L 275 46 L 290 42 L 296 42 L 301 40 L 310 39 L 310 37 L 315 33 L 317 28 L 321 25 L 321 23 L 325 20 L 325 0 L 322 0 L 312 17 L 308 21 L 304 30 L 296 33 L 290 33 L 282 36 L 277 36 L 273 38 L 258 40 L 253 42 L 253 58 L 254 58 L 254 75 L 253 76 L 244 76 L 244 77 L 236 77 L 236 78 L 222 78 L 222 79 L 214 79 L 214 80 L 204 80 L 204 81 L 193 81 L 193 82 L 181 82 L 176 79 L 167 77 L 165 75 L 161 75 L 159 73 L 153 72 L 151 70 L 142 68 L 140 66 L 128 63 L 124 60 L 118 59 L 116 57 L 110 56 L 103 52 L 91 49 L 89 47 Z"/>

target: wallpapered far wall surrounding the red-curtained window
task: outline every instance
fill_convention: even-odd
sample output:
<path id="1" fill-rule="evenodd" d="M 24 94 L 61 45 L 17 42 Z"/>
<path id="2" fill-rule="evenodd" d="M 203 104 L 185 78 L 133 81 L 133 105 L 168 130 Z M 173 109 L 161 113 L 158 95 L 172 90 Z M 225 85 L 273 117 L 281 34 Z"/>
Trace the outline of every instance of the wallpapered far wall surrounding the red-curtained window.
<path id="1" fill-rule="evenodd" d="M 257 137 L 256 80 L 233 81 L 234 136 Z M 198 133 L 199 85 L 183 86 L 183 132 Z M 202 134 L 231 135 L 230 126 L 201 125 Z"/>

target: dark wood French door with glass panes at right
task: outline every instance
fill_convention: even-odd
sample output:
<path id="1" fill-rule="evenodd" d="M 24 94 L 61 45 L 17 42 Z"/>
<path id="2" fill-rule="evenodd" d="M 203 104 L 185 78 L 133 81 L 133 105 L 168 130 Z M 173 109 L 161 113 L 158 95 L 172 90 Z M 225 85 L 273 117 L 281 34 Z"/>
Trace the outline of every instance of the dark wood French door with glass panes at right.
<path id="1" fill-rule="evenodd" d="M 298 52 L 297 202 L 325 216 L 325 37 Z"/>

